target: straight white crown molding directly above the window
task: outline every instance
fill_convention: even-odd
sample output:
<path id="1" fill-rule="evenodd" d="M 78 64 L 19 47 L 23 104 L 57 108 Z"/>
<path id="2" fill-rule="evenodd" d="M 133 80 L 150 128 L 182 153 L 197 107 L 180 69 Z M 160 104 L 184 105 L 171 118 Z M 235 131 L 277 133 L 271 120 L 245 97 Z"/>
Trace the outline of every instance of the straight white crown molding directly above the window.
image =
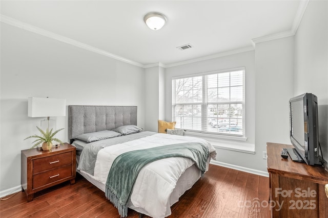
<path id="1" fill-rule="evenodd" d="M 195 58 L 195 59 L 190 59 L 187 61 L 181 61 L 181 62 L 176 62 L 176 63 L 172 63 L 172 64 L 166 64 L 166 68 L 169 67 L 173 67 L 173 66 L 179 66 L 179 65 L 183 65 L 183 64 L 190 64 L 190 63 L 195 63 L 198 61 L 206 61 L 206 60 L 210 60 L 210 59 L 214 59 L 214 58 L 220 58 L 220 57 L 224 57 L 224 56 L 229 56 L 229 55 L 234 55 L 234 54 L 238 54 L 238 53 L 242 53 L 242 52 L 249 52 L 249 51 L 253 51 L 254 47 L 253 46 L 248 46 L 248 47 L 243 47 L 241 49 L 236 49 L 236 50 L 231 50 L 231 51 L 227 51 L 227 52 L 222 52 L 222 53 L 218 53 L 218 54 L 214 54 L 214 55 L 209 55 L 209 56 L 204 56 L 201 58 Z"/>

